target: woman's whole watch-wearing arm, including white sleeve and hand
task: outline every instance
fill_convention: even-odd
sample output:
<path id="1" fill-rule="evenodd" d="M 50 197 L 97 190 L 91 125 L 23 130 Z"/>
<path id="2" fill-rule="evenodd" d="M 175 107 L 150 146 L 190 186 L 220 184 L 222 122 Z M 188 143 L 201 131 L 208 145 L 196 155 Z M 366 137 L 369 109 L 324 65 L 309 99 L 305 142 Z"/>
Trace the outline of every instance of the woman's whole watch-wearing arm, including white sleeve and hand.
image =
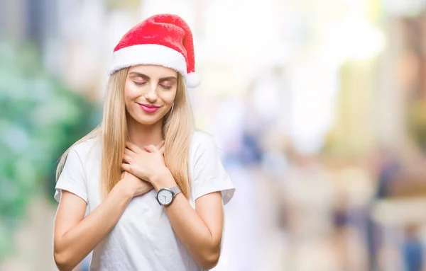
<path id="1" fill-rule="evenodd" d="M 148 180 L 155 190 L 170 188 L 176 181 L 165 166 L 163 151 L 155 146 L 144 147 L 126 143 L 121 167 L 142 180 Z M 195 154 L 195 209 L 181 193 L 164 207 L 173 230 L 192 257 L 203 269 L 211 269 L 219 260 L 223 229 L 223 204 L 234 193 L 234 186 L 224 171 L 214 142 L 206 138 Z M 222 199 L 222 190 L 231 190 Z M 217 192 L 215 192 L 217 191 Z M 223 202 L 222 202 L 223 201 Z"/>

